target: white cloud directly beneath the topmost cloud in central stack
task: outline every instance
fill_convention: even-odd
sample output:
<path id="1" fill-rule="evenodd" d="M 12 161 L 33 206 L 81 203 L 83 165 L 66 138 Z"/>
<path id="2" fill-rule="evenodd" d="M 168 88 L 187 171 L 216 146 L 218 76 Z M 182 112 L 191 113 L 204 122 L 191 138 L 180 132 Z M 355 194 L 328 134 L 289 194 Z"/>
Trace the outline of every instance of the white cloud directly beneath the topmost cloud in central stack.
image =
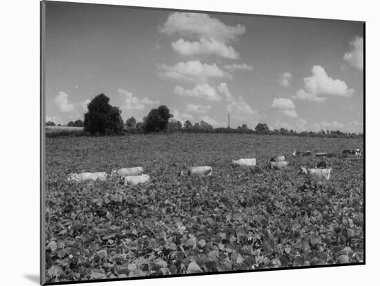
<path id="1" fill-rule="evenodd" d="M 185 41 L 179 39 L 171 43 L 173 50 L 184 56 L 193 56 L 195 54 L 216 54 L 219 57 L 227 59 L 238 59 L 239 54 L 231 47 L 215 39 L 200 38 L 200 41 Z"/>

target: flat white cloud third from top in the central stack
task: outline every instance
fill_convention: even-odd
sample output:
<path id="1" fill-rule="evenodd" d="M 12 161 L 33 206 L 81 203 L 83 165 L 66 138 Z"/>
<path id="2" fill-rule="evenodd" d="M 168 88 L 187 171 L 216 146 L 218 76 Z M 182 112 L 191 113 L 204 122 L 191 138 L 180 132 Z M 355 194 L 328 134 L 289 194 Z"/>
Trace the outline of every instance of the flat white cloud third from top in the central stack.
<path id="1" fill-rule="evenodd" d="M 175 65 L 158 65 L 161 75 L 169 79 L 205 83 L 210 78 L 223 78 L 230 76 L 221 70 L 216 63 L 211 65 L 200 61 L 179 62 Z"/>

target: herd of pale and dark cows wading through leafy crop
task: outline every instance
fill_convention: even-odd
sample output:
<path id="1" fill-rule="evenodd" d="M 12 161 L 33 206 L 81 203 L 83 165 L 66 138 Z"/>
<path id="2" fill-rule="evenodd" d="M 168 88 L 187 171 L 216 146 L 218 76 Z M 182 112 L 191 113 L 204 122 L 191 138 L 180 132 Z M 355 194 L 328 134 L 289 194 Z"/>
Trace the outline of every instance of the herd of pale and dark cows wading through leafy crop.
<path id="1" fill-rule="evenodd" d="M 361 156 L 362 152 L 360 149 L 348 150 L 345 149 L 342 152 L 342 156 L 348 156 L 348 154 L 353 154 Z M 311 151 L 295 151 L 293 156 L 311 156 Z M 314 154 L 317 157 L 332 157 L 336 156 L 335 153 L 322 153 L 317 152 Z M 249 159 L 238 159 L 232 161 L 233 165 L 240 167 L 256 167 L 256 158 Z M 282 170 L 289 165 L 289 161 L 285 161 L 285 156 L 278 156 L 270 159 L 265 163 L 267 167 L 275 170 Z M 327 168 L 325 161 L 319 161 L 314 168 L 306 168 L 305 166 L 300 166 L 300 172 L 318 179 L 330 180 L 332 168 Z M 210 166 L 196 166 L 188 167 L 186 170 L 182 170 L 179 176 L 211 176 L 212 167 Z M 147 183 L 150 180 L 148 174 L 144 174 L 143 167 L 129 167 L 122 168 L 119 170 L 113 170 L 111 172 L 111 178 L 117 176 L 124 181 L 124 185 L 137 185 L 140 183 Z M 84 172 L 84 173 L 71 173 L 68 175 L 68 181 L 106 181 L 108 174 L 106 172 Z"/>

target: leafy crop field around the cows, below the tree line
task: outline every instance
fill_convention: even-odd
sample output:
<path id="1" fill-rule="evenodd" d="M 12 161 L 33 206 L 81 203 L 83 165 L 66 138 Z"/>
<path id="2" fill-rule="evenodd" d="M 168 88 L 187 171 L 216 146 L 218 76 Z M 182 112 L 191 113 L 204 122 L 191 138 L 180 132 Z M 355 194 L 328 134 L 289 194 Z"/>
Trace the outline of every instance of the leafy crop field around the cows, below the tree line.
<path id="1" fill-rule="evenodd" d="M 361 139 L 251 134 L 138 134 L 46 139 L 50 282 L 363 262 Z M 330 181 L 299 174 L 334 152 Z M 265 161 L 284 154 L 287 170 Z M 254 170 L 231 165 L 256 157 Z M 179 177 L 210 165 L 211 177 Z M 70 172 L 144 167 L 151 182 L 68 183 Z"/>

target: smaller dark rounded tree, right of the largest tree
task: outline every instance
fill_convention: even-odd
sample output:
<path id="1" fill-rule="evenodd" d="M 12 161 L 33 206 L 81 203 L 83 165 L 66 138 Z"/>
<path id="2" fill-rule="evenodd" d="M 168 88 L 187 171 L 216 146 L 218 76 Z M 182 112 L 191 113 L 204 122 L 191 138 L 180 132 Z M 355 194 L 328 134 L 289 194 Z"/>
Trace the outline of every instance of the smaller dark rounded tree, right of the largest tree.
<path id="1" fill-rule="evenodd" d="M 170 114 L 169 108 L 166 105 L 161 105 L 159 108 L 154 108 L 146 116 L 144 121 L 144 130 L 146 132 L 158 132 L 167 130 L 169 119 L 173 117 Z"/>

